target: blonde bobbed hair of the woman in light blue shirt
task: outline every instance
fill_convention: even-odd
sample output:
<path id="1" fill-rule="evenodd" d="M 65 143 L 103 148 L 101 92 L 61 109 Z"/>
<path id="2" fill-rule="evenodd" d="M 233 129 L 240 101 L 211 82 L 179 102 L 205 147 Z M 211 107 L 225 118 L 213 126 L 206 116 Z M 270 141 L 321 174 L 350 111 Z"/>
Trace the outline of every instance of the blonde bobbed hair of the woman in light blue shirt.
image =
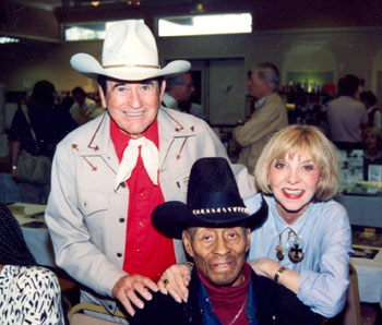
<path id="1" fill-rule="evenodd" d="M 321 169 L 315 200 L 331 198 L 338 185 L 339 154 L 333 143 L 318 128 L 311 125 L 289 125 L 271 137 L 254 169 L 258 188 L 264 193 L 272 193 L 268 177 L 271 164 L 275 159 L 293 158 L 305 153 L 309 153 Z"/>

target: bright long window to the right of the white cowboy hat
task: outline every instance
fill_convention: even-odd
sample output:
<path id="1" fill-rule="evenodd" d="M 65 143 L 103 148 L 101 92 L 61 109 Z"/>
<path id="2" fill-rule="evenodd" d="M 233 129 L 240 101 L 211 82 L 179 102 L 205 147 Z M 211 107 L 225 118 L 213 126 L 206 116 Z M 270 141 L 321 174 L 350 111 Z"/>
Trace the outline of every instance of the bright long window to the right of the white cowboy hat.
<path id="1" fill-rule="evenodd" d="M 237 34 L 252 32 L 250 13 L 188 15 L 163 17 L 158 21 L 159 36 Z"/>

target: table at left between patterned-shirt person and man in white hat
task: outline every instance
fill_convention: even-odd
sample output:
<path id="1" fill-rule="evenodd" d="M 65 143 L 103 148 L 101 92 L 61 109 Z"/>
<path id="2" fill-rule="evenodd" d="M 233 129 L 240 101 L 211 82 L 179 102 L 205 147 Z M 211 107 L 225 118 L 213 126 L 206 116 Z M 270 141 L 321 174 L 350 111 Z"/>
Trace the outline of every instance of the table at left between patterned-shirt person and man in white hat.
<path id="1" fill-rule="evenodd" d="M 48 228 L 45 224 L 45 205 L 13 203 L 8 205 L 19 221 L 27 246 L 40 265 L 57 267 Z"/>

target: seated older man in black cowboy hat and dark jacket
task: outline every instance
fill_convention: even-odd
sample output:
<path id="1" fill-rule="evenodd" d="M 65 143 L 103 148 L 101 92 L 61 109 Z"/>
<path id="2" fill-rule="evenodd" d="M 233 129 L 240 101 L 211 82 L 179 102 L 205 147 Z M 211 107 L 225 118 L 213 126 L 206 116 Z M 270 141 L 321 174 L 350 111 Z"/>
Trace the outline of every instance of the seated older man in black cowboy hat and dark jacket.
<path id="1" fill-rule="evenodd" d="M 265 201 L 249 215 L 227 160 L 199 159 L 191 169 L 187 204 L 167 202 L 152 215 L 153 225 L 182 239 L 193 258 L 188 300 L 177 303 L 156 292 L 132 324 L 319 324 L 319 315 L 294 292 L 256 276 L 246 262 L 251 230 L 266 216 Z"/>

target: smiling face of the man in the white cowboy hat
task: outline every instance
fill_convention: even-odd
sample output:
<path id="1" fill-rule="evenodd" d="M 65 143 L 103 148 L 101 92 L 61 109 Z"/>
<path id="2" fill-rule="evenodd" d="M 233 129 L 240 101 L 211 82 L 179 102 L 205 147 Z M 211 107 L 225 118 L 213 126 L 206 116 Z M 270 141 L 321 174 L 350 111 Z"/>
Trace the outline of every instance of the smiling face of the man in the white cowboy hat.
<path id="1" fill-rule="evenodd" d="M 106 96 L 99 87 L 103 107 L 119 129 L 131 137 L 141 137 L 156 119 L 166 83 L 158 81 L 106 81 Z"/>

